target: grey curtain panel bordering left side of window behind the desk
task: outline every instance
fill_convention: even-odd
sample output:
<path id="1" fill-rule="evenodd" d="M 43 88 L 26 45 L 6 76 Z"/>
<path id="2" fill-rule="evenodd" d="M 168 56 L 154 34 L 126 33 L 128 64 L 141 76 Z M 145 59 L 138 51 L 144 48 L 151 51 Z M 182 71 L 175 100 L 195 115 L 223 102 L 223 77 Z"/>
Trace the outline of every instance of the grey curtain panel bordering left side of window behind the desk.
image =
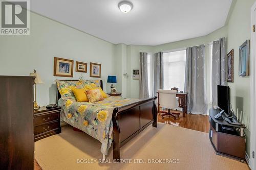
<path id="1" fill-rule="evenodd" d="M 154 76 L 153 76 L 153 87 L 152 96 L 157 96 L 157 90 L 163 89 L 163 52 L 158 52 L 153 55 L 154 59 Z"/>

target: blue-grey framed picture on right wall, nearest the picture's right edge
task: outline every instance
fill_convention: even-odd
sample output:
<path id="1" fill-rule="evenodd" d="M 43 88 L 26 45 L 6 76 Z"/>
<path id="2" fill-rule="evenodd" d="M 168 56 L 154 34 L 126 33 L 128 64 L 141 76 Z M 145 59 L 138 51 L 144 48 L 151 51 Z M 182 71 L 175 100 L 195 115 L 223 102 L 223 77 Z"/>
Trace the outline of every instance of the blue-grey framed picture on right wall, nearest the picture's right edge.
<path id="1" fill-rule="evenodd" d="M 239 47 L 239 76 L 249 76 L 250 40 Z"/>

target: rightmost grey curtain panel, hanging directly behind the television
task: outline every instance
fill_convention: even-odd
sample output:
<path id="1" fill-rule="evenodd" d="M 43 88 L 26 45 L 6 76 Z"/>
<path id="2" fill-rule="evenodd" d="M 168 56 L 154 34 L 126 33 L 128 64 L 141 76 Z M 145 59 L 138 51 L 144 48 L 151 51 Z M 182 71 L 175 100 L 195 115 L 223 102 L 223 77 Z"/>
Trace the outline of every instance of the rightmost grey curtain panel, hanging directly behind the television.
<path id="1" fill-rule="evenodd" d="M 212 44 L 212 69 L 211 69 L 211 90 L 212 90 L 212 107 L 217 106 L 217 85 L 226 85 L 227 72 L 227 51 L 226 38 L 220 38 Z"/>

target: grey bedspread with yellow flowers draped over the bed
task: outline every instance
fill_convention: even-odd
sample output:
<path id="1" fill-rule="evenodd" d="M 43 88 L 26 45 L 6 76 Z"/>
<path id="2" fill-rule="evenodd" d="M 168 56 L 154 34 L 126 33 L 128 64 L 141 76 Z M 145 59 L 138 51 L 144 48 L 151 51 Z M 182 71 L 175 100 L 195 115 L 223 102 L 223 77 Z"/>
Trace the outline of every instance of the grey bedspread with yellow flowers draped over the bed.
<path id="1" fill-rule="evenodd" d="M 112 113 L 114 108 L 138 102 L 138 99 L 110 96 L 103 101 L 76 102 L 75 98 L 59 99 L 61 119 L 71 126 L 86 132 L 101 142 L 101 153 L 108 154 L 113 140 Z"/>

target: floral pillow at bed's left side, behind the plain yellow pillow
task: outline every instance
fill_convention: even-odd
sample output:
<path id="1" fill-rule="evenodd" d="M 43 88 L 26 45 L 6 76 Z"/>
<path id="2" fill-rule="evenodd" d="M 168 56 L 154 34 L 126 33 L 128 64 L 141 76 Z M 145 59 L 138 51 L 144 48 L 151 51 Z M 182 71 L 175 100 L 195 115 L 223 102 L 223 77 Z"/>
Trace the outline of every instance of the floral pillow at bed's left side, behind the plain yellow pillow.
<path id="1" fill-rule="evenodd" d="M 61 95 L 61 99 L 66 100 L 74 97 L 72 89 L 82 89 L 83 85 L 79 81 L 65 81 L 65 80 L 56 80 L 57 88 Z"/>

